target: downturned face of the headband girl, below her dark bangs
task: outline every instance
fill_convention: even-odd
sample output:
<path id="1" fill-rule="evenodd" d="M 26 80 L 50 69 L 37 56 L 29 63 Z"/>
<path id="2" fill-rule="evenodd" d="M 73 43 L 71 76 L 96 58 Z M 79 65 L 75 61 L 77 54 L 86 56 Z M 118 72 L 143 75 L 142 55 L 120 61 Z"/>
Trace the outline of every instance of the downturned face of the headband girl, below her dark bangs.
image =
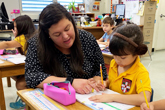
<path id="1" fill-rule="evenodd" d="M 113 57 L 118 66 L 127 67 L 134 63 L 134 61 L 137 58 L 137 55 L 135 55 L 135 56 L 133 56 L 132 54 L 124 55 L 124 56 L 113 55 Z"/>

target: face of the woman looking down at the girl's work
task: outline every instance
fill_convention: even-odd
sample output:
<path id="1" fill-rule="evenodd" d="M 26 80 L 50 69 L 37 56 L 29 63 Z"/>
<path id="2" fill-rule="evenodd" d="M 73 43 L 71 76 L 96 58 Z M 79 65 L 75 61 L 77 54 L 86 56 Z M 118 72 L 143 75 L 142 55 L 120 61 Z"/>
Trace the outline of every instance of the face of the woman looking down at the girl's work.
<path id="1" fill-rule="evenodd" d="M 49 36 L 54 42 L 56 48 L 62 53 L 70 53 L 70 47 L 75 40 L 75 31 L 71 21 L 63 18 L 57 24 L 53 24 L 49 28 Z"/>

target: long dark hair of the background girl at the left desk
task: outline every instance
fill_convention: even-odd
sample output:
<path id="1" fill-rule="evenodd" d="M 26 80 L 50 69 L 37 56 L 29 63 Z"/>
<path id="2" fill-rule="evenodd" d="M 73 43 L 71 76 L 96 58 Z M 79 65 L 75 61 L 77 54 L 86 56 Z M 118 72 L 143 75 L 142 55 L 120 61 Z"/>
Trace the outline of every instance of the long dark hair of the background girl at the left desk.
<path id="1" fill-rule="evenodd" d="M 27 50 L 27 41 L 32 37 L 33 33 L 35 32 L 35 27 L 31 18 L 27 15 L 18 16 L 14 22 L 16 23 L 17 28 L 17 36 L 24 35 L 26 42 L 25 42 L 25 51 Z M 25 55 L 25 51 L 23 52 L 21 47 L 18 47 L 19 53 Z"/>

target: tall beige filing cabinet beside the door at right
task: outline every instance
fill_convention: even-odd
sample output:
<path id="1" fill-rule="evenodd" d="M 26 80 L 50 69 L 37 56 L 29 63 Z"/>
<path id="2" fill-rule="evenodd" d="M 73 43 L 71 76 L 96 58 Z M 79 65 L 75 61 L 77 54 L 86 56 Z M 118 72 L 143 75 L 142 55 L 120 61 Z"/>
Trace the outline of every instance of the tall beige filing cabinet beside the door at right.
<path id="1" fill-rule="evenodd" d="M 144 3 L 144 15 L 140 18 L 140 23 L 143 25 L 144 41 L 149 42 L 147 46 L 150 52 L 152 51 L 156 3 L 156 1 L 146 1 Z"/>

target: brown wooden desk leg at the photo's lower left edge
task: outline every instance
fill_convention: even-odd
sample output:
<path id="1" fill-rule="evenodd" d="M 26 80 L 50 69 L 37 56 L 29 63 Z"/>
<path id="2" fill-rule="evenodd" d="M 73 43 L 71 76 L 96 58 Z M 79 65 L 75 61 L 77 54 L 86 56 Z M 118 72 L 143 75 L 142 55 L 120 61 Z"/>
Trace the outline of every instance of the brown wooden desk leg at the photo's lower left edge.
<path id="1" fill-rule="evenodd" d="M 1 73 L 0 73 L 1 74 Z M 0 75 L 0 109 L 6 110 L 5 105 L 5 98 L 4 98 L 4 91 L 3 91 L 3 84 L 2 84 L 2 77 Z"/>

